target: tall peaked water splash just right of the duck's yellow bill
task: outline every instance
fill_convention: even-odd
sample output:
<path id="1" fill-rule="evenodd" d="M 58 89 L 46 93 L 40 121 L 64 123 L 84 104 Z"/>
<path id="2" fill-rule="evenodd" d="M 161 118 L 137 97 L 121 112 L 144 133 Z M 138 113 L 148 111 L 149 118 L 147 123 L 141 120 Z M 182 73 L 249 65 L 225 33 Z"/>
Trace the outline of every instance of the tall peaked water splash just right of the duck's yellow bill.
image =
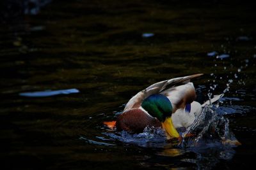
<path id="1" fill-rule="evenodd" d="M 202 113 L 196 117 L 195 122 L 182 134 L 180 146 L 191 147 L 205 143 L 220 143 L 222 145 L 236 146 L 239 142 L 229 129 L 228 119 L 218 115 L 216 105 L 205 105 Z M 192 138 L 185 138 L 188 134 L 196 134 Z"/>

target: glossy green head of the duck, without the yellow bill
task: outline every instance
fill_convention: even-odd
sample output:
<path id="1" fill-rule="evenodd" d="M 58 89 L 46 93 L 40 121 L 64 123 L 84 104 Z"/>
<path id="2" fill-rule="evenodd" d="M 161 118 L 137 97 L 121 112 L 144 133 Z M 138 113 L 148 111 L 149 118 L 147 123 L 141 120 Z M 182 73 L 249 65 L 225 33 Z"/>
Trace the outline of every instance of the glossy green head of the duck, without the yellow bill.
<path id="1" fill-rule="evenodd" d="M 172 104 L 163 94 L 148 96 L 141 104 L 141 107 L 160 122 L 164 122 L 167 117 L 172 116 Z"/>

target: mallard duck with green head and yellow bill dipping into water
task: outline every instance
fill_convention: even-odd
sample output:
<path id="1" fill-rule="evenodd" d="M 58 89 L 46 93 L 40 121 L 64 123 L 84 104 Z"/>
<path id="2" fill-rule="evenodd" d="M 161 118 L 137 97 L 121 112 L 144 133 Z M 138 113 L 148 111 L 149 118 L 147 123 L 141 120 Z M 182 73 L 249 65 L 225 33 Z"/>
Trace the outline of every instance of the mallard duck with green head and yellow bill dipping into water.
<path id="1" fill-rule="evenodd" d="M 222 95 L 200 104 L 191 79 L 203 74 L 193 74 L 160 81 L 141 90 L 126 104 L 116 121 L 104 122 L 116 131 L 143 132 L 145 127 L 162 127 L 169 138 L 180 138 L 179 128 L 188 129 L 206 104 L 218 101 Z"/>

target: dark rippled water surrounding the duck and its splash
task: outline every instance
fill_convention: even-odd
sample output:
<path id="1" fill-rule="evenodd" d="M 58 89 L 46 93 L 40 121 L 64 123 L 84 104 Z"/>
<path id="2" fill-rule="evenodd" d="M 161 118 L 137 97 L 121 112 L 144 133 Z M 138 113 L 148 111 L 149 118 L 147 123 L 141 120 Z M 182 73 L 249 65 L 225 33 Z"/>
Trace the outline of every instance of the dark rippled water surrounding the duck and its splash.
<path id="1" fill-rule="evenodd" d="M 234 169 L 256 155 L 255 4 L 246 1 L 2 1 L 1 169 Z M 143 38 L 143 33 L 154 36 Z M 229 55 L 226 59 L 208 52 Z M 102 122 L 157 81 L 194 80 L 241 146 L 198 151 L 103 143 Z M 79 89 L 29 98 L 20 92 Z M 105 139 L 106 140 L 106 139 Z M 200 150 L 200 149 L 199 149 Z M 226 157 L 221 157 L 220 155 Z M 232 156 L 227 157 L 228 154 Z"/>

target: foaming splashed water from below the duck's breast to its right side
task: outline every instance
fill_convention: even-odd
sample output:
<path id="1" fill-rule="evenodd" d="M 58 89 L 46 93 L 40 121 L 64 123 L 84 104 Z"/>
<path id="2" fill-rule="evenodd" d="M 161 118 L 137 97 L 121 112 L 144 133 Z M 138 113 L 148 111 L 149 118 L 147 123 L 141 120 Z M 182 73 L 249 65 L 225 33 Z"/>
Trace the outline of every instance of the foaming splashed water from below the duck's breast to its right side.
<path id="1" fill-rule="evenodd" d="M 146 127 L 139 134 L 122 132 L 103 132 L 109 139 L 115 139 L 123 143 L 134 144 L 142 147 L 166 148 L 166 145 L 178 146 L 180 148 L 202 147 L 210 143 L 218 143 L 221 147 L 233 147 L 239 144 L 234 134 L 229 129 L 228 119 L 219 114 L 218 104 L 205 105 L 202 113 L 196 117 L 193 124 L 183 132 L 182 141 L 173 141 L 166 138 L 166 134 L 160 127 Z M 179 131 L 179 130 L 178 130 Z M 188 136 L 190 137 L 186 137 Z"/>

